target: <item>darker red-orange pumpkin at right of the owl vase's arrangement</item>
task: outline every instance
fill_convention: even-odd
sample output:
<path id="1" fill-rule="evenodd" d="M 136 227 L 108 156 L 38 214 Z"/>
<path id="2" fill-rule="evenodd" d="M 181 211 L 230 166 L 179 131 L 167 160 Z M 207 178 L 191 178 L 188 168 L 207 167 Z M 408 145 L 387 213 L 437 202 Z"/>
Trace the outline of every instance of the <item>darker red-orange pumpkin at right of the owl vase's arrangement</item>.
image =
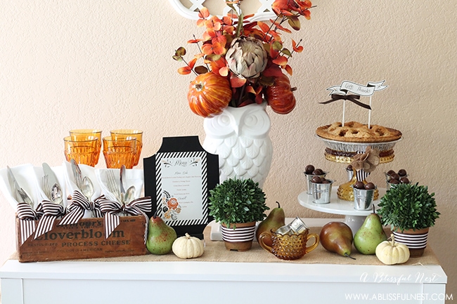
<path id="1" fill-rule="evenodd" d="M 273 112 L 288 114 L 295 108 L 294 88 L 290 87 L 289 78 L 282 74 L 274 79 L 273 86 L 266 87 L 266 101 Z"/>

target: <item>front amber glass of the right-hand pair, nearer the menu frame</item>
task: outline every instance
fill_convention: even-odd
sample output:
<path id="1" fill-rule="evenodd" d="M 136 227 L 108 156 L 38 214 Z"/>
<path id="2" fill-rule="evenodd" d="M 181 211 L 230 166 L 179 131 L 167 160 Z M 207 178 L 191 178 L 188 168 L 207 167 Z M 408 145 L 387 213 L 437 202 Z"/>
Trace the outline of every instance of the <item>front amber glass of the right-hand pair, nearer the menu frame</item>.
<path id="1" fill-rule="evenodd" d="M 103 138 L 103 156 L 107 168 L 133 168 L 136 157 L 136 138 L 127 136 L 124 139 L 114 139 L 111 136 Z"/>

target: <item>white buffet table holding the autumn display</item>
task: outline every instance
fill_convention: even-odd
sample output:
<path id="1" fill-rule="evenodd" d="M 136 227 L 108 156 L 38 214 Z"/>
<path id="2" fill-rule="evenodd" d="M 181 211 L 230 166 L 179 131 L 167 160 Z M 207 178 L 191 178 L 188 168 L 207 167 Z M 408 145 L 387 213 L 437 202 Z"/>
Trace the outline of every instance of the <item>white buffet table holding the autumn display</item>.
<path id="1" fill-rule="evenodd" d="M 371 303 L 371 300 L 435 304 L 444 303 L 447 282 L 439 265 L 301 264 L 282 260 L 277 263 L 8 260 L 0 269 L 0 279 L 3 304 Z M 354 297 L 366 298 L 354 300 Z"/>

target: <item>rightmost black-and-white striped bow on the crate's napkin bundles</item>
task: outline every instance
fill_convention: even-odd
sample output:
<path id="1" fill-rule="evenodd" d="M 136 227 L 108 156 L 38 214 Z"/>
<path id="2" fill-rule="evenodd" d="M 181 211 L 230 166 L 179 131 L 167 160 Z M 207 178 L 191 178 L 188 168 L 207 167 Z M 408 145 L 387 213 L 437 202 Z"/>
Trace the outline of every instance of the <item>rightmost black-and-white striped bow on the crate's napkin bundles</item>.
<path id="1" fill-rule="evenodd" d="M 105 214 L 105 238 L 108 239 L 116 227 L 119 226 L 119 213 L 127 213 L 129 216 L 143 215 L 146 218 L 146 223 L 148 223 L 148 216 L 146 215 L 146 212 L 150 212 L 152 209 L 153 203 L 150 197 L 141 197 L 139 199 L 134 199 L 127 204 L 120 204 L 117 201 L 110 201 L 102 196 L 100 199 L 100 210 Z M 144 234 L 145 244 L 148 235 L 147 227 L 148 225 L 146 225 L 146 231 Z"/>

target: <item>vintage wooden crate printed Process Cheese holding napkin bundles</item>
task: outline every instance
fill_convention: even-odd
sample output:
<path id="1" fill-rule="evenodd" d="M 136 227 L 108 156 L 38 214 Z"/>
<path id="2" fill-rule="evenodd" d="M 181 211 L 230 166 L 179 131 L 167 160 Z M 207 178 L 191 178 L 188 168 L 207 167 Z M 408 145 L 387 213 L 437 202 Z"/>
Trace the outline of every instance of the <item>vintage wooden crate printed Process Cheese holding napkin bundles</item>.
<path id="1" fill-rule="evenodd" d="M 75 225 L 58 226 L 20 245 L 20 223 L 16 218 L 17 250 L 20 262 L 112 258 L 146 254 L 144 216 L 122 216 L 120 225 L 105 239 L 103 218 L 82 218 Z"/>

